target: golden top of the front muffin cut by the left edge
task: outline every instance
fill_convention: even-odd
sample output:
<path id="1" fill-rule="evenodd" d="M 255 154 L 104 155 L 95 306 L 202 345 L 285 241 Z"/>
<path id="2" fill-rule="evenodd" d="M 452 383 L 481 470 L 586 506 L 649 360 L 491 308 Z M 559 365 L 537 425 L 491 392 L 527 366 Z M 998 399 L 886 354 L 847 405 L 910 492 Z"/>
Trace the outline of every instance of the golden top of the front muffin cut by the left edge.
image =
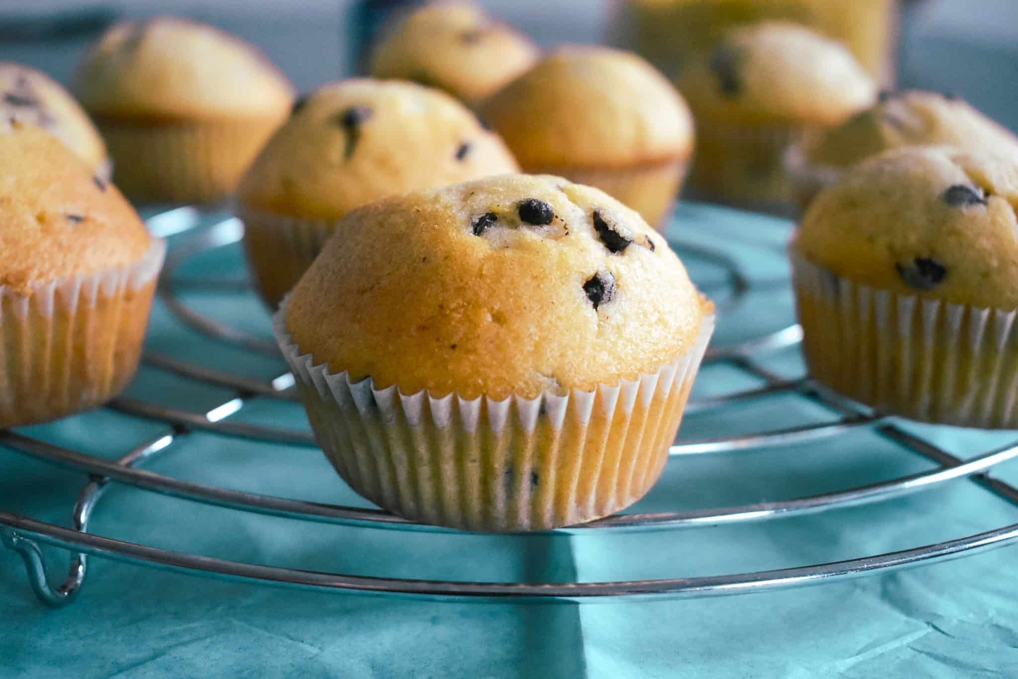
<path id="1" fill-rule="evenodd" d="M 57 137 L 36 125 L 0 120 L 0 285 L 29 294 L 33 284 L 139 262 L 152 238 L 112 184 Z"/>

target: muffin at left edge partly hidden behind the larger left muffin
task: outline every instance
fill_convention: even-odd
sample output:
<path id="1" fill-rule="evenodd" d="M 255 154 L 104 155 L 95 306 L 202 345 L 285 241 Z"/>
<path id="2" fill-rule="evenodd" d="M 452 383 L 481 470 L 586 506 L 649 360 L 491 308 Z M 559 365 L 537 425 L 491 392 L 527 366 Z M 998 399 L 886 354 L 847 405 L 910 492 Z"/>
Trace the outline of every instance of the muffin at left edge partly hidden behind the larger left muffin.
<path id="1" fill-rule="evenodd" d="M 48 130 L 104 181 L 112 166 L 99 131 L 74 98 L 46 75 L 21 64 L 0 61 L 0 118 Z"/>

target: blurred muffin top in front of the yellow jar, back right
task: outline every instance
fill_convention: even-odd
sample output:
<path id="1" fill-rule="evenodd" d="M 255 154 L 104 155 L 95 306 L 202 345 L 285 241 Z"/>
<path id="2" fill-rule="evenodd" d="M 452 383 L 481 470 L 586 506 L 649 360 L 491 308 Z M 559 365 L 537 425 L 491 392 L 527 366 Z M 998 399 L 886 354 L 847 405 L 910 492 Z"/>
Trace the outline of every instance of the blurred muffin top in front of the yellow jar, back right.
<path id="1" fill-rule="evenodd" d="M 841 43 L 789 21 L 733 29 L 678 78 L 698 118 L 836 125 L 876 96 Z"/>

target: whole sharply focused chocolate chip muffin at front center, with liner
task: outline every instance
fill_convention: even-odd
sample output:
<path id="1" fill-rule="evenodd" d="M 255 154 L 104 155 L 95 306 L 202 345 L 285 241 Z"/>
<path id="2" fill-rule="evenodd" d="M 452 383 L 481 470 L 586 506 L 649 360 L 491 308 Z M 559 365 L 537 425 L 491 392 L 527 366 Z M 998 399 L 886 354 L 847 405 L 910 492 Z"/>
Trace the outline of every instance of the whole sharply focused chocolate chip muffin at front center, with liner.
<path id="1" fill-rule="evenodd" d="M 506 175 L 339 228 L 275 327 L 351 488 L 416 521 L 510 531 L 589 521 L 654 485 L 714 316 L 635 212 Z"/>

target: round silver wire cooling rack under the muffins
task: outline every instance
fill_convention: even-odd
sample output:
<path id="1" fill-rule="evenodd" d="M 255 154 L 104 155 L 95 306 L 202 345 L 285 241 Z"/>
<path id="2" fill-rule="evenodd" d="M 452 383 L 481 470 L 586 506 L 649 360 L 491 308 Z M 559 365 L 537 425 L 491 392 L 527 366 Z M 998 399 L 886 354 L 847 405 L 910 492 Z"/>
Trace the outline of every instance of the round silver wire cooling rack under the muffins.
<path id="1" fill-rule="evenodd" d="M 227 343 L 240 352 L 275 355 L 277 349 L 271 339 L 226 325 L 186 305 L 181 299 L 180 291 L 185 287 L 188 289 L 229 289 L 234 291 L 247 288 L 248 284 L 245 280 L 186 277 L 179 272 L 181 265 L 191 258 L 205 253 L 211 253 L 215 257 L 216 251 L 220 248 L 237 243 L 242 236 L 240 223 L 230 218 L 209 224 L 202 219 L 202 214 L 197 210 L 185 207 L 151 217 L 149 226 L 156 235 L 163 237 L 187 232 L 186 235 L 178 237 L 182 238 L 183 242 L 170 249 L 160 279 L 159 296 L 169 310 L 183 323 L 207 335 L 209 341 Z M 723 249 L 704 247 L 690 242 L 671 241 L 671 244 L 680 253 L 706 260 L 726 272 L 729 294 L 721 301 L 720 312 L 722 315 L 726 308 L 738 305 L 750 290 L 751 284 L 748 277 L 740 269 L 736 260 Z M 781 283 L 787 285 L 787 281 L 781 281 Z M 930 441 L 902 429 L 892 418 L 882 416 L 880 413 L 872 412 L 863 406 L 830 393 L 808 379 L 784 379 L 761 363 L 760 358 L 769 352 L 794 347 L 800 340 L 800 328 L 790 326 L 736 344 L 712 347 L 705 358 L 708 364 L 726 363 L 760 381 L 762 386 L 691 401 L 687 411 L 691 413 L 729 408 L 737 404 L 752 404 L 756 399 L 775 394 L 794 393 L 812 399 L 836 413 L 830 420 L 811 421 L 740 436 L 679 443 L 673 445 L 670 450 L 673 462 L 674 458 L 682 456 L 725 454 L 742 449 L 789 446 L 843 436 L 853 430 L 867 429 L 892 440 L 904 449 L 931 460 L 936 467 L 921 473 L 799 499 L 761 502 L 721 509 L 618 514 L 556 532 L 641 528 L 660 530 L 696 526 L 709 527 L 739 522 L 762 522 L 875 503 L 963 478 L 967 478 L 985 491 L 1018 505 L 1018 489 L 988 475 L 988 471 L 995 465 L 1018 457 L 1018 442 L 962 460 Z M 275 379 L 263 380 L 210 369 L 153 351 L 148 351 L 143 360 L 150 367 L 165 371 L 189 381 L 227 388 L 231 392 L 231 396 L 215 407 L 201 412 L 167 407 L 138 398 L 120 397 L 114 400 L 107 407 L 136 417 L 160 420 L 171 427 L 169 434 L 138 442 L 128 454 L 115 461 L 53 445 L 23 433 L 0 431 L 0 445 L 39 460 L 89 475 L 89 480 L 73 507 L 72 527 L 70 528 L 0 511 L 0 540 L 5 547 L 14 550 L 21 556 L 33 590 L 42 602 L 50 606 L 65 606 L 73 601 L 89 573 L 89 556 L 193 575 L 321 591 L 390 592 L 447 600 L 511 598 L 543 601 L 590 601 L 620 597 L 705 597 L 815 584 L 947 560 L 993 547 L 1005 546 L 1018 540 L 1018 524 L 1012 524 L 996 530 L 899 552 L 874 554 L 859 559 L 819 563 L 804 567 L 668 579 L 525 583 L 367 577 L 300 570 L 210 558 L 91 534 L 88 531 L 90 517 L 106 490 L 113 484 L 127 485 L 152 493 L 244 512 L 302 521 L 356 525 L 363 530 L 387 528 L 448 532 L 446 528 L 416 524 L 378 509 L 330 505 L 300 499 L 252 494 L 191 483 L 144 469 L 145 463 L 152 461 L 157 456 L 170 454 L 177 447 L 175 444 L 193 432 L 211 431 L 221 437 L 241 443 L 253 440 L 315 446 L 315 440 L 309 430 L 290 430 L 227 419 L 230 415 L 241 411 L 254 398 L 296 400 L 293 378 L 289 374 L 281 374 Z M 69 574 L 57 586 L 51 585 L 47 578 L 41 546 L 61 548 L 71 554 Z"/>

